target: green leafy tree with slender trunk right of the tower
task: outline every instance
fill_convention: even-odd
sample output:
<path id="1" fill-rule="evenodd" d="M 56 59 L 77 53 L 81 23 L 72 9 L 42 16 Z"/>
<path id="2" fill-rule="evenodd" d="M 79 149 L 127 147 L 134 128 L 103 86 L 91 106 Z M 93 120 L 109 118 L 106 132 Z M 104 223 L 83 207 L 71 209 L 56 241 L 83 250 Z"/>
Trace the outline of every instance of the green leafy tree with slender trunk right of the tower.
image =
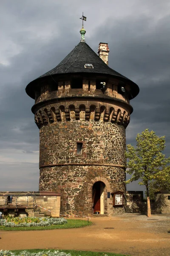
<path id="1" fill-rule="evenodd" d="M 165 137 L 159 138 L 149 129 L 137 134 L 136 147 L 127 145 L 127 173 L 132 176 L 126 183 L 140 179 L 138 184 L 146 186 L 147 217 L 151 217 L 149 189 L 170 189 L 170 157 L 162 154 L 164 148 Z"/>

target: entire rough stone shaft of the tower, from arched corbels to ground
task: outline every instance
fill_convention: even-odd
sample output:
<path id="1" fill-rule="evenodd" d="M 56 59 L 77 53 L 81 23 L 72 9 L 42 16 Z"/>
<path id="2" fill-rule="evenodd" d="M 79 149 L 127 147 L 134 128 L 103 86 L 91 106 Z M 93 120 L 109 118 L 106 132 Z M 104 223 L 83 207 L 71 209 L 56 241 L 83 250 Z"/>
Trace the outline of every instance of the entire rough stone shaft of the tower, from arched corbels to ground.
<path id="1" fill-rule="evenodd" d="M 77 154 L 78 142 L 83 143 L 82 154 Z M 125 207 L 113 207 L 107 192 L 126 191 L 125 146 L 125 128 L 111 122 L 71 120 L 43 125 L 40 190 L 61 192 L 62 214 L 91 213 L 90 182 L 101 177 L 106 185 L 105 213 L 124 212 Z"/>

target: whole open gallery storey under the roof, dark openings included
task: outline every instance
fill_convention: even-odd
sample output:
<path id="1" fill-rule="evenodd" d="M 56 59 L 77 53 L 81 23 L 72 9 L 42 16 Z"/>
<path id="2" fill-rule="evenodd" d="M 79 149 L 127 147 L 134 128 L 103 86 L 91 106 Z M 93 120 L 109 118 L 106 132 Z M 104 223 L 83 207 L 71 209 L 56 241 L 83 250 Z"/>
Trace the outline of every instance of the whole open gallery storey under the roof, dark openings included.
<path id="1" fill-rule="evenodd" d="M 105 82 L 103 88 L 102 82 Z M 120 90 L 125 87 L 126 93 Z M 62 79 L 41 81 L 35 89 L 35 104 L 50 99 L 59 99 L 62 97 L 80 97 L 88 96 L 92 98 L 111 97 L 120 99 L 129 103 L 129 85 L 118 79 L 109 79 L 108 77 L 81 78 L 81 76 L 72 76 L 70 80 Z"/>

